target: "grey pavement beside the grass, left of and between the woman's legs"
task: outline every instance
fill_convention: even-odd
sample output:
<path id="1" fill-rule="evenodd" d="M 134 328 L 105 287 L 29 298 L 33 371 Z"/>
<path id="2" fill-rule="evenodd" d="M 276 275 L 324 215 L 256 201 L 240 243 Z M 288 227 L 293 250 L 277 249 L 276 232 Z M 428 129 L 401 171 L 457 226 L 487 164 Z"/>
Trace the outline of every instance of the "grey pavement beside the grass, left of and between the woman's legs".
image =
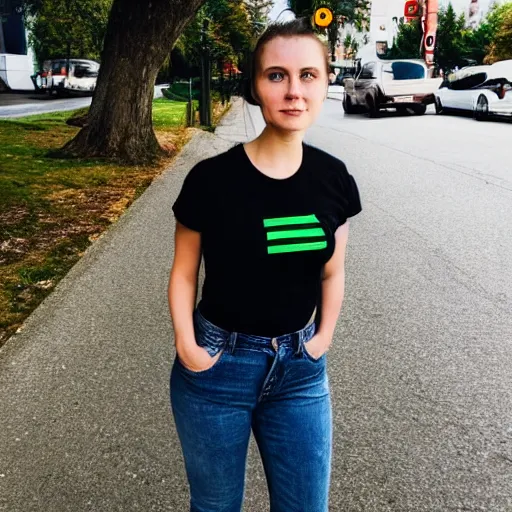
<path id="1" fill-rule="evenodd" d="M 201 132 L 0 349 L 0 510 L 188 510 L 169 404 L 171 206 L 189 169 L 255 137 L 235 100 Z M 251 442 L 248 510 L 267 509 Z"/>

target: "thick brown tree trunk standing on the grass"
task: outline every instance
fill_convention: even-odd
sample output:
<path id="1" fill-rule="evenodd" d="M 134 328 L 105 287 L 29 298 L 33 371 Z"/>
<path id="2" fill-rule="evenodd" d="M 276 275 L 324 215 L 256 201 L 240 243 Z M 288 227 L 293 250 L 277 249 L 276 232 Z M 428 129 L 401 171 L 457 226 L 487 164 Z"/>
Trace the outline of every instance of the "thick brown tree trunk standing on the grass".
<path id="1" fill-rule="evenodd" d="M 137 164 L 163 150 L 153 131 L 153 87 L 169 49 L 204 0 L 114 0 L 87 125 L 62 149 Z"/>

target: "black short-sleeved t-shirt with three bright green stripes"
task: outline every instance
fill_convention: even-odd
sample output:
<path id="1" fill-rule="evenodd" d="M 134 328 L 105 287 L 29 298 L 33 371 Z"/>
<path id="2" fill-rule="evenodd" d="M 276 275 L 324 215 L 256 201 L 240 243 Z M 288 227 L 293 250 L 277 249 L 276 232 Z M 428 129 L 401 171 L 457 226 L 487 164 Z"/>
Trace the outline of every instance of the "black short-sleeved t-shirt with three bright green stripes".
<path id="1" fill-rule="evenodd" d="M 173 210 L 201 233 L 202 315 L 230 332 L 274 337 L 302 329 L 320 306 L 334 233 L 361 204 L 345 164 L 317 148 L 303 144 L 300 168 L 279 180 L 238 144 L 189 172 Z"/>

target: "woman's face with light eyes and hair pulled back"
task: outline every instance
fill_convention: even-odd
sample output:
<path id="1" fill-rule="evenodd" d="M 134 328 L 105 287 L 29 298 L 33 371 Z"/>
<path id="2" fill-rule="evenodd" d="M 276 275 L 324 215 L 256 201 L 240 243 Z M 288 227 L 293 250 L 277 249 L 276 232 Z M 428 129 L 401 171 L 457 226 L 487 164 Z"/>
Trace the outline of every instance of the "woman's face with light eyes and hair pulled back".
<path id="1" fill-rule="evenodd" d="M 327 86 L 325 52 L 312 37 L 277 37 L 263 47 L 254 87 L 267 125 L 307 130 L 320 113 Z"/>

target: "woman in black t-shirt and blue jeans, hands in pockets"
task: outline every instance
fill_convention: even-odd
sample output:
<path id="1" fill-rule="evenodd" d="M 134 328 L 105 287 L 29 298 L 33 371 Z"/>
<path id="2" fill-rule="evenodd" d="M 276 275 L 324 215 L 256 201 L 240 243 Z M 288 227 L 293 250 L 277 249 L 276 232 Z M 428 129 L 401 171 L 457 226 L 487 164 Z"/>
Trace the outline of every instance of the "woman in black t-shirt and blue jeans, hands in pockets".
<path id="1" fill-rule="evenodd" d="M 240 512 L 251 430 L 270 510 L 327 512 L 325 354 L 343 300 L 347 219 L 361 205 L 345 165 L 303 143 L 329 73 L 311 26 L 271 26 L 253 58 L 248 99 L 266 128 L 196 165 L 173 207 L 172 411 L 192 512 Z"/>

